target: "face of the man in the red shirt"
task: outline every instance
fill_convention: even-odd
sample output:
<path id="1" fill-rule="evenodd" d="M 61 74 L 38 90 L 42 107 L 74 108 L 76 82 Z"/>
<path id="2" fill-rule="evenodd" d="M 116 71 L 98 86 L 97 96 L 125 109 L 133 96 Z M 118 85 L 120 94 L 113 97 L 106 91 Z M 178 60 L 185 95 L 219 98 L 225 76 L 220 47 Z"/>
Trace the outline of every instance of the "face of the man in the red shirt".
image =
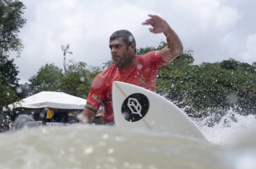
<path id="1" fill-rule="evenodd" d="M 126 44 L 122 37 L 109 41 L 112 59 L 118 68 L 129 68 L 134 63 L 135 54 L 132 52 L 134 49 L 131 46 L 126 49 Z"/>

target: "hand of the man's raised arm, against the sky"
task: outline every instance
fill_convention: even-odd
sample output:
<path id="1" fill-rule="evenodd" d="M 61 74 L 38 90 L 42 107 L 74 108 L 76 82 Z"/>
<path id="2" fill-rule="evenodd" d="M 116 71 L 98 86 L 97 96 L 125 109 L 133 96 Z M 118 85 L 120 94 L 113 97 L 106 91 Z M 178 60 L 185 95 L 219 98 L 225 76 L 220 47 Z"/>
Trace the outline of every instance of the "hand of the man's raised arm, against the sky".
<path id="1" fill-rule="evenodd" d="M 151 25 L 153 28 L 149 28 L 152 33 L 162 33 L 165 32 L 170 26 L 168 23 L 157 15 L 148 15 L 151 19 L 147 19 L 142 25 Z"/>

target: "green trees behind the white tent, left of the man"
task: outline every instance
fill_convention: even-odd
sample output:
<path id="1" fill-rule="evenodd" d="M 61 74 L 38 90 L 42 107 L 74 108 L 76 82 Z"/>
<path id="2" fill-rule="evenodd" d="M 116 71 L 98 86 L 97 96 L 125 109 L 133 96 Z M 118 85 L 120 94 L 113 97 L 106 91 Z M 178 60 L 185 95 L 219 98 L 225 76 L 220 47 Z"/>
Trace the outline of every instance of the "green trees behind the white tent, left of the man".
<path id="1" fill-rule="evenodd" d="M 29 78 L 30 84 L 20 85 L 22 95 L 30 96 L 41 91 L 59 91 L 69 95 L 86 98 L 93 78 L 102 71 L 100 67 L 88 67 L 85 62 L 69 61 L 66 74 L 55 64 L 46 64 Z M 27 88 L 28 86 L 28 88 Z"/>

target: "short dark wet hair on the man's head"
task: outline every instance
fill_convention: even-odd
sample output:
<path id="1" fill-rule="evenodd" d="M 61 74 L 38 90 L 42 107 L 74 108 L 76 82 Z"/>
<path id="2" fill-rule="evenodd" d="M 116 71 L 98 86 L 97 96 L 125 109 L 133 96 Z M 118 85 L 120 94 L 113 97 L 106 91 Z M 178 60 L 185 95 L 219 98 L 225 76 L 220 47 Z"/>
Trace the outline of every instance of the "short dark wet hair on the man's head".
<path id="1" fill-rule="evenodd" d="M 114 39 L 118 39 L 120 37 L 123 38 L 123 41 L 126 44 L 126 49 L 127 50 L 128 50 L 129 46 L 132 43 L 136 44 L 136 41 L 135 41 L 134 36 L 132 35 L 132 33 L 130 33 L 129 31 L 126 31 L 126 30 L 115 31 L 110 36 L 109 41 L 113 41 Z M 136 53 L 136 49 L 134 49 L 134 52 Z"/>

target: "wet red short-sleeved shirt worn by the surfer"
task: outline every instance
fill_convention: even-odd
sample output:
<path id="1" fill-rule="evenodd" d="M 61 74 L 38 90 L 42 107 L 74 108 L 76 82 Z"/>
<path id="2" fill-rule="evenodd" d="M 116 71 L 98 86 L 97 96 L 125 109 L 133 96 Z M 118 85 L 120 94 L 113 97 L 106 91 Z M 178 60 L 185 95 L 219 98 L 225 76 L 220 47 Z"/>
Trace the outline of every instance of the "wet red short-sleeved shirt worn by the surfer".
<path id="1" fill-rule="evenodd" d="M 160 51 L 136 56 L 136 64 L 125 70 L 113 64 L 94 78 L 87 101 L 97 108 L 103 103 L 103 122 L 112 122 L 112 82 L 126 82 L 155 91 L 158 69 L 166 64 L 168 62 L 162 60 Z"/>

